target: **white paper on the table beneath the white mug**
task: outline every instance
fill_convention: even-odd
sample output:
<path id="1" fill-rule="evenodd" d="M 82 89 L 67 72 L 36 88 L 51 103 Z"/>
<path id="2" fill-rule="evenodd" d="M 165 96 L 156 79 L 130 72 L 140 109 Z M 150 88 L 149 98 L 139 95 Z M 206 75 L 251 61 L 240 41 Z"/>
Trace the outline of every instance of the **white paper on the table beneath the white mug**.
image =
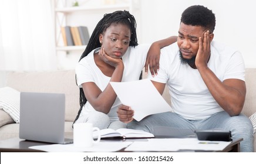
<path id="1" fill-rule="evenodd" d="M 99 142 L 90 148 L 79 148 L 74 144 L 52 144 L 31 146 L 30 149 L 36 149 L 45 152 L 116 152 L 126 148 L 132 142 Z"/>

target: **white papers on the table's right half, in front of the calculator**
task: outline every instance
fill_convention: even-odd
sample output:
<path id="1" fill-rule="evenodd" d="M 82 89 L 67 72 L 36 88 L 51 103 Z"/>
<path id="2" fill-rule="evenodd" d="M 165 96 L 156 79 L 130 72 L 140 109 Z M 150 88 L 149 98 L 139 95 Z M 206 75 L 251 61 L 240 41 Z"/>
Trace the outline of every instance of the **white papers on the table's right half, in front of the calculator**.
<path id="1" fill-rule="evenodd" d="M 153 138 L 148 142 L 133 142 L 124 151 L 222 151 L 230 143 L 231 141 L 199 141 L 197 138 Z"/>

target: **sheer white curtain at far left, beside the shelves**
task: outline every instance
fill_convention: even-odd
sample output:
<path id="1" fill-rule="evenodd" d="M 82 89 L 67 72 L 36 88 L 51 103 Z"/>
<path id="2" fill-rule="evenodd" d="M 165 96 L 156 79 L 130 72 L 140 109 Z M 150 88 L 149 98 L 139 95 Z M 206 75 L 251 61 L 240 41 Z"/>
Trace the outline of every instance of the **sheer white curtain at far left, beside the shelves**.
<path id="1" fill-rule="evenodd" d="M 56 70 L 50 0 L 0 0 L 0 70 Z"/>

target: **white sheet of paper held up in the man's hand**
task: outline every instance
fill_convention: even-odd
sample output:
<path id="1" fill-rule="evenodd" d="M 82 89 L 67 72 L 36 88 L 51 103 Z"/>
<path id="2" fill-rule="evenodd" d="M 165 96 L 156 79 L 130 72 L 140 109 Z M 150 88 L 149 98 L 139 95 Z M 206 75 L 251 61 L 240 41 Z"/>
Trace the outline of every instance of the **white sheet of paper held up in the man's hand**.
<path id="1" fill-rule="evenodd" d="M 134 110 L 133 118 L 142 120 L 147 115 L 172 111 L 170 105 L 149 79 L 110 82 L 122 104 Z"/>

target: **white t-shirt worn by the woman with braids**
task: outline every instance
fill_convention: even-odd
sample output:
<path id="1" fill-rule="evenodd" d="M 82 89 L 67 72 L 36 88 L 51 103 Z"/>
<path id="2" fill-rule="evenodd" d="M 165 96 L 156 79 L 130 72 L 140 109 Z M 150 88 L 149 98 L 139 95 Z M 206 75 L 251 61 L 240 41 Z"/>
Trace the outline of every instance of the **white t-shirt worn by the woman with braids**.
<path id="1" fill-rule="evenodd" d="M 129 47 L 127 52 L 122 57 L 124 63 L 124 71 L 122 81 L 134 81 L 139 80 L 140 73 L 142 73 L 142 69 L 146 62 L 147 52 L 149 50 L 150 45 L 138 45 L 136 47 Z M 76 66 L 76 79 L 78 83 L 78 87 L 82 87 L 83 83 L 86 82 L 94 82 L 100 90 L 105 90 L 107 84 L 109 84 L 110 78 L 105 76 L 102 71 L 100 71 L 99 67 L 96 66 L 95 60 L 93 57 L 93 53 L 95 50 L 90 52 L 86 57 L 83 57 L 82 60 Z M 117 107 L 121 104 L 119 98 L 116 98 L 114 104 L 107 114 L 109 115 L 110 122 L 117 121 Z M 90 105 L 89 101 L 83 107 L 81 112 L 82 115 L 88 114 L 90 111 L 95 110 L 92 105 Z"/>

